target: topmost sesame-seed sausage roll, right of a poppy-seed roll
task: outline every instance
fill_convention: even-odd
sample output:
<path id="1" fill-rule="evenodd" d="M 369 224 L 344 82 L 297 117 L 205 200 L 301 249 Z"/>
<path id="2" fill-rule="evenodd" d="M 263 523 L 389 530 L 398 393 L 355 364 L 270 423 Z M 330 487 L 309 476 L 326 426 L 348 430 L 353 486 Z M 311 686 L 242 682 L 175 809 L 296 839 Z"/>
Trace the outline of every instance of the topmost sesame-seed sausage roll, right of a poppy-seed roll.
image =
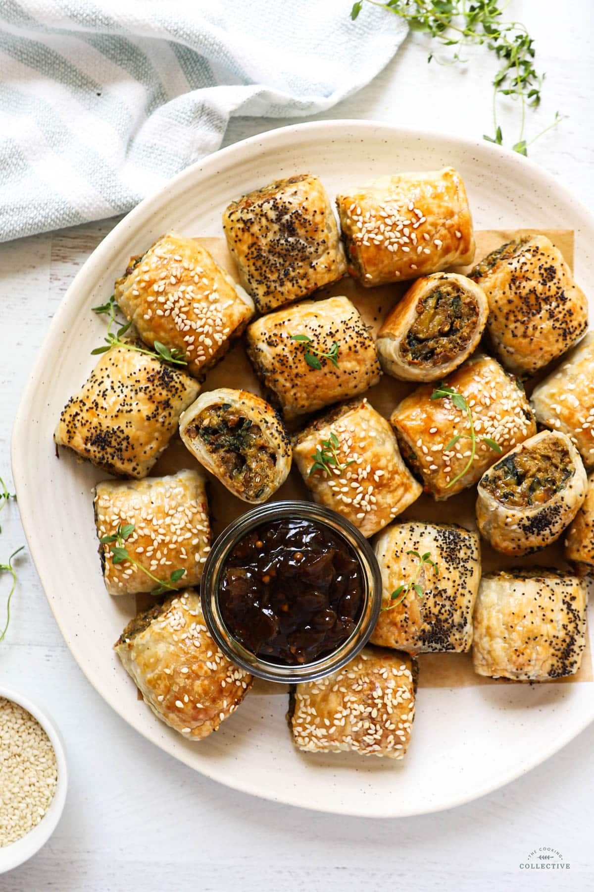
<path id="1" fill-rule="evenodd" d="M 351 276 L 366 287 L 472 263 L 466 189 L 453 168 L 382 177 L 338 195 Z"/>

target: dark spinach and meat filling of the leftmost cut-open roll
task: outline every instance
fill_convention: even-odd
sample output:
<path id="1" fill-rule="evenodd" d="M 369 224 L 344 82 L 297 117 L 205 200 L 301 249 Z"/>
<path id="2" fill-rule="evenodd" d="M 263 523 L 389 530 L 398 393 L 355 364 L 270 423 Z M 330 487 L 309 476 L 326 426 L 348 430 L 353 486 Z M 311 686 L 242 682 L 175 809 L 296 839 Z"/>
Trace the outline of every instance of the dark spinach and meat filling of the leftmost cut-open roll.
<path id="1" fill-rule="evenodd" d="M 231 403 L 208 406 L 188 433 L 199 437 L 247 499 L 258 499 L 273 480 L 276 455 L 270 442 L 260 425 L 233 409 Z"/>

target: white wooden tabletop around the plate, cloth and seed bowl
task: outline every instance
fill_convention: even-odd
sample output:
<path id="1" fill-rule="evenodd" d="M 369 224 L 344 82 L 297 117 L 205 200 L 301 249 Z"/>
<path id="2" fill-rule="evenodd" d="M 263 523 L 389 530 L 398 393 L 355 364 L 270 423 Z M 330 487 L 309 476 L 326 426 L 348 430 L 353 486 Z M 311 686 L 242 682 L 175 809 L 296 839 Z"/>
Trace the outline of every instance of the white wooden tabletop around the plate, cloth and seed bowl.
<path id="1" fill-rule="evenodd" d="M 545 127 L 557 109 L 569 115 L 531 154 L 592 205 L 594 4 L 574 0 L 564 8 L 553 0 L 514 0 L 508 12 L 528 26 L 547 72 L 530 129 Z M 326 117 L 490 134 L 492 63 L 480 52 L 474 59 L 468 51 L 468 57 L 468 70 L 428 66 L 424 38 L 409 38 L 374 83 Z M 501 115 L 509 143 L 517 138 L 509 139 L 517 120 L 512 112 Z M 225 143 L 284 123 L 290 121 L 234 120 Z M 28 368 L 77 268 L 115 222 L 0 245 L 0 474 L 7 480 L 12 418 Z M 51 497 L 46 509 L 51 514 Z M 1 521 L 5 560 L 24 541 L 14 504 Z M 55 716 L 68 748 L 70 788 L 52 840 L 29 863 L 0 877 L 1 892 L 594 888 L 594 727 L 509 787 L 446 814 L 365 821 L 275 805 L 191 772 L 129 728 L 70 657 L 27 557 L 20 560 L 19 576 L 12 624 L 0 645 L 0 676 Z M 80 598 L 86 597 L 81 580 Z M 540 846 L 556 848 L 570 871 L 520 870 Z"/>

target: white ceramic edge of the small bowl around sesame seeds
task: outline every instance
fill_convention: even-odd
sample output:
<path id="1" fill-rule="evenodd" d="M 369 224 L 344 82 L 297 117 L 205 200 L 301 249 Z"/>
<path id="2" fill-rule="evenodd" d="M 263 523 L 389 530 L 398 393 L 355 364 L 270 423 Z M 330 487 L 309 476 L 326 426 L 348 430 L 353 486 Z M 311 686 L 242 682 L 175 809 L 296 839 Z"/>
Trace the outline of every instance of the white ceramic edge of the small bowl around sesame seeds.
<path id="1" fill-rule="evenodd" d="M 0 873 L 12 871 L 14 867 L 27 861 L 31 855 L 36 855 L 39 849 L 45 846 L 47 840 L 52 836 L 53 831 L 61 818 L 66 801 L 66 790 L 68 789 L 68 769 L 66 767 L 66 753 L 64 751 L 64 741 L 61 739 L 61 733 L 53 723 L 53 719 L 41 709 L 32 703 L 27 697 L 17 693 L 12 688 L 5 688 L 0 685 L 0 698 L 12 700 L 26 709 L 44 729 L 53 746 L 53 752 L 56 756 L 58 766 L 58 782 L 56 784 L 55 793 L 53 794 L 50 807 L 47 809 L 44 817 L 30 830 L 24 837 L 12 842 L 9 846 L 0 847 Z"/>

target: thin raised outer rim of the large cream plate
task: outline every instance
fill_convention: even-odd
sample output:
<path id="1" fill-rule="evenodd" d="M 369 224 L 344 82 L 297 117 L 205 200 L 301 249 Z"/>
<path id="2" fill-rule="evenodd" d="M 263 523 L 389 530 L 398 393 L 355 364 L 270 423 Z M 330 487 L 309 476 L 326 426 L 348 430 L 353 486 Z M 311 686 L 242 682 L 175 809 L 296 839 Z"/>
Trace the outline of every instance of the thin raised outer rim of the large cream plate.
<path id="1" fill-rule="evenodd" d="M 15 492 L 17 494 L 17 503 L 20 509 L 20 520 L 23 531 L 25 533 L 25 538 L 27 540 L 28 553 L 35 565 L 37 575 L 39 576 L 39 581 L 41 582 L 42 589 L 45 593 L 45 598 L 47 599 L 52 609 L 54 620 L 58 625 L 62 638 L 69 648 L 70 653 L 74 657 L 78 668 L 85 675 L 87 681 L 89 681 L 90 684 L 94 687 L 94 690 L 97 691 L 97 693 L 115 711 L 115 713 L 118 714 L 119 717 L 126 722 L 126 724 L 133 728 L 136 733 L 142 734 L 142 737 L 150 740 L 151 743 L 155 744 L 157 747 L 159 747 L 159 749 L 167 753 L 167 756 L 173 757 L 183 764 L 188 765 L 188 767 L 190 767 L 194 771 L 199 772 L 210 780 L 216 780 L 217 783 L 224 784 L 224 786 L 229 787 L 230 789 L 236 789 L 241 793 L 248 793 L 252 796 L 264 798 L 269 801 L 283 803 L 286 805 L 294 805 L 299 808 L 310 809 L 312 811 L 326 814 L 346 814 L 354 817 L 364 818 L 392 818 L 403 816 L 412 817 L 421 814 L 436 814 L 438 812 L 443 812 L 451 808 L 456 808 L 460 805 L 465 805 L 480 797 L 484 797 L 489 793 L 492 793 L 494 790 L 501 789 L 502 787 L 507 786 L 507 784 L 511 783 L 514 780 L 517 780 L 519 777 L 522 777 L 525 773 L 531 771 L 533 768 L 546 762 L 551 756 L 554 756 L 559 750 L 566 747 L 568 743 L 570 743 L 579 734 L 581 734 L 582 731 L 584 731 L 590 725 L 590 723 L 594 722 L 594 709 L 592 710 L 592 714 L 587 714 L 585 720 L 579 723 L 579 726 L 573 725 L 570 731 L 562 733 L 560 737 L 556 738 L 549 747 L 546 747 L 544 750 L 539 750 L 538 756 L 535 756 L 533 758 L 525 758 L 517 766 L 516 771 L 505 772 L 504 777 L 489 780 L 484 784 L 483 787 L 476 788 L 472 792 L 464 793 L 460 795 L 460 797 L 452 798 L 446 804 L 427 804 L 427 807 L 412 808 L 405 814 L 403 814 L 402 812 L 395 812 L 394 810 L 389 808 L 389 805 L 387 807 L 376 805 L 374 807 L 374 813 L 370 814 L 369 811 L 366 811 L 357 806 L 340 805 L 339 807 L 338 805 L 330 805 L 324 807 L 323 805 L 317 803 L 304 803 L 302 799 L 300 800 L 298 797 L 292 794 L 289 789 L 283 789 L 280 795 L 273 795 L 269 792 L 261 792 L 255 788 L 255 785 L 252 785 L 249 782 L 243 782 L 239 772 L 238 774 L 228 777 L 226 775 L 223 776 L 221 772 L 218 772 L 215 765 L 211 769 L 210 766 L 205 765 L 198 767 L 195 764 L 191 764 L 190 756 L 186 756 L 185 750 L 178 752 L 175 754 L 175 756 L 173 756 L 173 754 L 168 751 L 167 747 L 164 746 L 162 740 L 159 739 L 159 735 L 157 732 L 155 732 L 155 734 L 152 734 L 151 729 L 149 728 L 137 728 L 134 723 L 130 721 L 130 719 L 124 713 L 123 709 L 119 708 L 117 698 L 111 698 L 109 683 L 107 680 L 104 682 L 101 679 L 95 679 L 94 677 L 91 677 L 91 674 L 87 672 L 87 669 L 85 667 L 85 659 L 82 653 L 84 648 L 82 644 L 78 646 L 77 642 L 70 639 L 65 629 L 62 628 L 61 615 L 56 599 L 53 593 L 45 590 L 42 574 L 39 570 L 39 565 L 41 564 L 41 552 L 43 550 L 43 543 L 36 539 L 35 533 L 32 530 L 30 518 L 28 516 L 28 500 L 31 497 L 29 497 L 28 486 L 26 483 L 27 467 L 24 459 L 24 453 L 19 448 L 20 438 L 23 436 L 23 434 L 26 434 L 24 427 L 27 420 L 28 402 L 31 399 L 32 392 L 35 390 L 35 383 L 39 379 L 42 369 L 47 368 L 48 359 L 51 360 L 50 344 L 53 341 L 55 332 L 57 332 L 61 327 L 62 317 L 69 309 L 70 295 L 73 291 L 77 290 L 81 281 L 85 280 L 89 268 L 94 267 L 95 264 L 100 263 L 102 260 L 109 259 L 111 249 L 112 247 L 117 248 L 118 239 L 120 233 L 122 233 L 123 230 L 126 230 L 128 227 L 130 227 L 130 225 L 134 224 L 134 222 L 139 218 L 146 219 L 151 214 L 151 210 L 153 209 L 153 207 L 160 205 L 163 198 L 170 190 L 178 189 L 186 181 L 190 183 L 192 178 L 194 178 L 197 174 L 208 173 L 209 169 L 215 169 L 216 166 L 221 163 L 221 161 L 228 161 L 229 159 L 232 159 L 233 156 L 236 156 L 237 160 L 241 161 L 241 156 L 243 155 L 243 153 L 247 152 L 251 146 L 257 145 L 259 147 L 263 147 L 263 145 L 265 145 L 266 148 L 270 149 L 275 143 L 277 143 L 284 148 L 291 141 L 293 141 L 293 143 L 297 145 L 299 137 L 301 135 L 305 135 L 305 137 L 319 136 L 320 133 L 326 132 L 326 135 L 329 139 L 332 138 L 332 136 L 338 139 L 341 136 L 345 135 L 345 131 L 349 133 L 349 136 L 356 136 L 357 132 L 361 132 L 362 141 L 364 141 L 364 137 L 369 135 L 370 132 L 374 130 L 377 131 L 375 136 L 379 138 L 381 138 L 383 134 L 386 138 L 397 137 L 404 140 L 427 140 L 428 142 L 447 141 L 451 145 L 460 147 L 460 149 L 465 149 L 467 151 L 474 150 L 476 151 L 476 153 L 483 154 L 486 158 L 492 156 L 493 158 L 496 157 L 500 160 L 501 155 L 503 155 L 506 158 L 506 162 L 511 164 L 512 166 L 515 166 L 517 170 L 525 169 L 527 165 L 530 169 L 532 169 L 533 175 L 541 179 L 541 182 L 543 182 L 544 186 L 549 186 L 549 188 L 553 189 L 556 194 L 564 198 L 566 202 L 571 202 L 574 205 L 575 213 L 577 215 L 582 215 L 582 217 L 584 217 L 588 221 L 588 224 L 594 230 L 594 213 L 590 211 L 590 209 L 582 202 L 582 200 L 578 196 L 574 195 L 574 193 L 565 185 L 565 183 L 560 181 L 548 170 L 542 168 L 541 165 L 537 164 L 531 158 L 520 156 L 518 155 L 518 153 L 514 153 L 512 150 L 504 146 L 491 145 L 478 139 L 471 139 L 466 136 L 459 136 L 457 134 L 451 134 L 444 131 L 432 130 L 429 128 L 406 128 L 387 121 L 369 119 L 301 121 L 297 124 L 290 124 L 285 127 L 273 128 L 263 133 L 258 133 L 255 136 L 248 136 L 246 139 L 240 140 L 239 142 L 233 143 L 232 145 L 225 146 L 223 149 L 219 149 L 215 153 L 211 153 L 205 158 L 200 159 L 199 161 L 195 161 L 189 167 L 176 174 L 174 178 L 169 179 L 167 183 L 164 186 L 161 186 L 157 192 L 144 198 L 142 202 L 139 202 L 139 204 L 137 204 L 131 211 L 128 211 L 123 219 L 119 220 L 116 226 L 110 230 L 108 235 L 106 235 L 102 239 L 102 242 L 100 242 L 100 244 L 95 247 L 94 251 L 85 260 L 82 267 L 78 270 L 77 275 L 70 283 L 66 293 L 64 293 L 64 295 L 62 296 L 60 304 L 53 314 L 50 325 L 45 332 L 44 339 L 37 351 L 37 356 L 30 368 L 26 384 L 23 387 L 20 396 L 19 407 L 17 409 L 12 425 L 11 464 L 12 480 L 14 483 Z M 332 131 L 335 131 L 334 134 L 332 133 Z M 216 173 L 216 170 L 214 172 Z M 23 430 L 22 434 L 21 430 Z M 155 728 L 156 731 L 159 730 L 159 723 L 155 723 Z"/>

